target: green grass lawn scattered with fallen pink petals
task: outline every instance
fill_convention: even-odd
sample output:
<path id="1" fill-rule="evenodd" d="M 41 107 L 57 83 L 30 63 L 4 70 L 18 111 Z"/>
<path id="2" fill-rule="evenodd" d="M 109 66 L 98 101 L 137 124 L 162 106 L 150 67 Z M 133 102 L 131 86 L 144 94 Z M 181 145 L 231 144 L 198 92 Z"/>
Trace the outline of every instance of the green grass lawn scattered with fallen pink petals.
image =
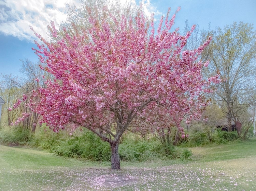
<path id="1" fill-rule="evenodd" d="M 0 145 L 0 190 L 256 190 L 256 139 L 194 147 L 191 161 L 110 162 L 65 159 Z M 104 184 L 122 175 L 126 185 Z"/>

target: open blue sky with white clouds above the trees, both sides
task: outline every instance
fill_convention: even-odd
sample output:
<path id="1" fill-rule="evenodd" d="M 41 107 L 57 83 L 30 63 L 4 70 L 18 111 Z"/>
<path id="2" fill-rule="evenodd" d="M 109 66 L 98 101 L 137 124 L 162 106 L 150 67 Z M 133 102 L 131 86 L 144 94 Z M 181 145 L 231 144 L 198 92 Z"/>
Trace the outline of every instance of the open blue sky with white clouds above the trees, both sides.
<path id="1" fill-rule="evenodd" d="M 130 2 L 139 4 L 138 0 Z M 65 3 L 79 5 L 79 0 L 56 0 L 54 3 L 52 0 L 0 0 L 0 73 L 20 75 L 20 59 L 38 60 L 31 50 L 36 37 L 29 25 L 46 37 L 50 20 L 59 24 L 66 19 Z M 199 25 L 200 29 L 207 29 L 209 22 L 212 28 L 223 28 L 233 21 L 243 21 L 254 24 L 256 30 L 255 0 L 144 0 L 142 3 L 146 12 L 155 12 L 156 19 L 165 15 L 168 7 L 173 14 L 181 6 L 174 25 L 181 31 L 185 20 L 189 25 Z"/>

